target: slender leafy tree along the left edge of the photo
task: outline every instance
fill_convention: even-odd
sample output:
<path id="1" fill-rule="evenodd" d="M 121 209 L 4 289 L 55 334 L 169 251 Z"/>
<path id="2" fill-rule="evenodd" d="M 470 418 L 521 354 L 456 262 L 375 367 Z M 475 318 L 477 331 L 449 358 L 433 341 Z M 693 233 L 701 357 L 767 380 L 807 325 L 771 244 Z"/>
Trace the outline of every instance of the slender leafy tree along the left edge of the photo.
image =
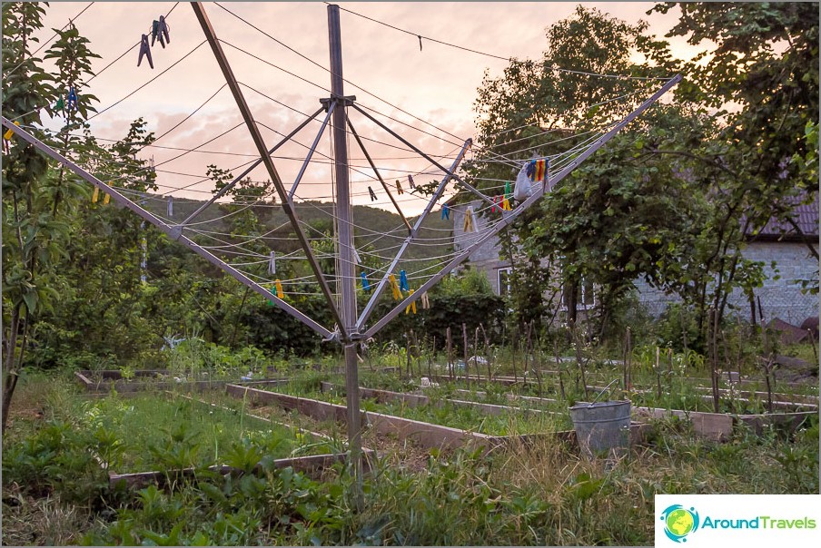
<path id="1" fill-rule="evenodd" d="M 58 59 L 58 74 L 45 73 L 41 60 L 32 54 L 33 34 L 43 27 L 41 4 L 5 3 L 3 5 L 3 115 L 25 126 L 39 126 L 40 112 L 54 113 L 51 105 L 62 93 L 55 85 L 72 79 L 81 87 L 88 73 L 87 57 L 79 34 L 70 29 L 59 32 L 60 40 L 48 54 Z M 77 62 L 60 64 L 67 49 L 76 46 Z M 87 112 L 93 97 L 84 97 L 80 116 Z M 54 269 L 64 254 L 71 229 L 64 210 L 74 207 L 78 192 L 66 188 L 62 175 L 52 170 L 45 155 L 33 145 L 12 137 L 3 162 L 3 351 L 5 379 L 3 389 L 3 429 L 15 393 L 25 350 L 30 342 L 35 318 L 59 298 L 62 282 Z"/>

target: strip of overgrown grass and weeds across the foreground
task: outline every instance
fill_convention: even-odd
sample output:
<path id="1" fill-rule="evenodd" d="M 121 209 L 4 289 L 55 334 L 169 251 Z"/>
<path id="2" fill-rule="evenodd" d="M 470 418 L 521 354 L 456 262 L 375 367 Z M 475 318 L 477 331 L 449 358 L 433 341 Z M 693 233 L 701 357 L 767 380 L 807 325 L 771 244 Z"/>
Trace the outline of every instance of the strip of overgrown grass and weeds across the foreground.
<path id="1" fill-rule="evenodd" d="M 740 427 L 726 444 L 659 420 L 615 463 L 554 439 L 487 455 L 431 450 L 417 466 L 399 448 L 364 478 L 359 512 L 343 467 L 318 482 L 270 461 L 260 475 L 203 474 L 121 493 L 89 456 L 103 445 L 79 427 L 76 394 L 45 381 L 20 394 L 45 396 L 45 418 L 16 420 L 3 438 L 7 544 L 648 545 L 655 494 L 818 492 L 816 417 L 790 435 Z"/>

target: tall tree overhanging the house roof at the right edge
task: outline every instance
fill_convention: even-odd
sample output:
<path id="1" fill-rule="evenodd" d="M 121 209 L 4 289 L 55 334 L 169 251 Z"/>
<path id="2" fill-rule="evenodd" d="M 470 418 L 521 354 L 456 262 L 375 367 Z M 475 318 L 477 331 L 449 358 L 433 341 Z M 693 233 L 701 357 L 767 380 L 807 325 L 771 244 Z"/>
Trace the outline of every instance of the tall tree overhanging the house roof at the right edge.
<path id="1" fill-rule="evenodd" d="M 712 179 L 715 214 L 701 259 L 714 283 L 702 284 L 697 304 L 701 322 L 707 308 L 715 308 L 720 321 L 730 292 L 737 285 L 751 292 L 756 282 L 749 280 L 760 280 L 760 265 L 742 256 L 746 235 L 772 218 L 789 223 L 796 205 L 817 195 L 817 173 L 802 159 L 817 149 L 818 4 L 665 3 L 648 13 L 674 6 L 681 17 L 668 35 L 716 44 L 691 62 L 668 60 L 690 78 L 677 94 L 710 109 L 722 124 L 713 140 L 695 149 L 655 153 L 687 158 Z M 807 249 L 818 258 L 809 241 Z"/>

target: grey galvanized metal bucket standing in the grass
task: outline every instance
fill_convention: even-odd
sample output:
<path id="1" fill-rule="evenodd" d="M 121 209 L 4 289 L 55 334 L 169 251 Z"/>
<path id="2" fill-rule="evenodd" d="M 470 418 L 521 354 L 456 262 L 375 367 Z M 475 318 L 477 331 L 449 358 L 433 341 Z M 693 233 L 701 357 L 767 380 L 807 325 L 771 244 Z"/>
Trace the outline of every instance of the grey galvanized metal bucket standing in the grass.
<path id="1" fill-rule="evenodd" d="M 585 455 L 623 454 L 630 443 L 630 402 L 579 403 L 570 407 L 576 439 Z"/>

